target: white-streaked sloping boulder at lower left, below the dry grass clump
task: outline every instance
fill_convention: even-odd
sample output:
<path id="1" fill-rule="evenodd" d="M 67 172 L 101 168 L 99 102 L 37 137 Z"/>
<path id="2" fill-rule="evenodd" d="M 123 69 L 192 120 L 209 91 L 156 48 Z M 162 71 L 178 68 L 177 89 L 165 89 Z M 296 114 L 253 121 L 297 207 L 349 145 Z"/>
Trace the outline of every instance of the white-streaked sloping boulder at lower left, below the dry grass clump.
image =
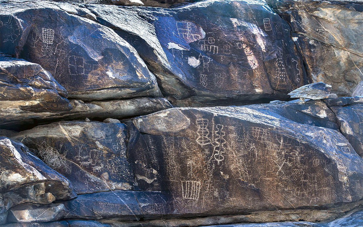
<path id="1" fill-rule="evenodd" d="M 0 137 L 0 151 L 0 217 L 17 204 L 47 204 L 76 196 L 68 179 L 50 169 L 22 143 Z"/>

